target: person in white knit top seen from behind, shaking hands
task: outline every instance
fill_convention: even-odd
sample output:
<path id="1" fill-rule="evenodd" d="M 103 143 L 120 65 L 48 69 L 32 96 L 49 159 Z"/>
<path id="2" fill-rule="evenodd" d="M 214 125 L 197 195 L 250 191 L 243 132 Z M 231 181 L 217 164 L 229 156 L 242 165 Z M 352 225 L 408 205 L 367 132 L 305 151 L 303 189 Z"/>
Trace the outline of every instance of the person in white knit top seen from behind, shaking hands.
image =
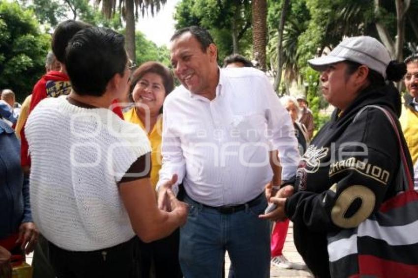
<path id="1" fill-rule="evenodd" d="M 135 234 L 170 234 L 187 207 L 169 192 L 172 211 L 157 208 L 147 136 L 109 110 L 128 86 L 123 36 L 82 30 L 65 60 L 73 91 L 42 101 L 26 125 L 34 222 L 59 278 L 135 277 Z"/>

